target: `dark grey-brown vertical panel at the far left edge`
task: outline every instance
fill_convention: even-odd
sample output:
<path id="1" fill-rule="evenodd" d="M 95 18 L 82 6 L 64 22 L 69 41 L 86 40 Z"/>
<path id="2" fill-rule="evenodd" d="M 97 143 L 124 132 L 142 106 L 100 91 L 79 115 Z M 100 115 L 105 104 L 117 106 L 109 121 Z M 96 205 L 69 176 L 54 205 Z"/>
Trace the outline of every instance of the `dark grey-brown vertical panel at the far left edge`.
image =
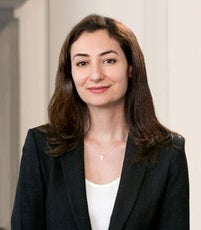
<path id="1" fill-rule="evenodd" d="M 18 22 L 0 31 L 0 227 L 9 229 L 19 165 Z"/>

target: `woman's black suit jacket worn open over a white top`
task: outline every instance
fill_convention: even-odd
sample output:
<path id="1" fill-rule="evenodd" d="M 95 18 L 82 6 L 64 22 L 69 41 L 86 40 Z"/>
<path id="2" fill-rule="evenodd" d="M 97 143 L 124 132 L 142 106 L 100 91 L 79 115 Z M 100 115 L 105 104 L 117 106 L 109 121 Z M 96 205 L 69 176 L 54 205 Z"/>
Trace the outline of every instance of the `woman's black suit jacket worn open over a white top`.
<path id="1" fill-rule="evenodd" d="M 184 140 L 160 150 L 158 162 L 131 164 L 128 138 L 109 230 L 188 230 L 189 182 Z M 28 132 L 12 214 L 12 230 L 90 230 L 83 144 L 53 158 L 46 136 Z"/>

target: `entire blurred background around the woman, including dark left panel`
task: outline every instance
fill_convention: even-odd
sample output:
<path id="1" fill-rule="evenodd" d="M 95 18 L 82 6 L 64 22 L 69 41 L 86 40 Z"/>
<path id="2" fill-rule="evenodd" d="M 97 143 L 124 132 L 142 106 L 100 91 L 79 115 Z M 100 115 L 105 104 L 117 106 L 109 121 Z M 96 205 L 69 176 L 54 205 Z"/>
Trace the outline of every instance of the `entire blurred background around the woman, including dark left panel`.
<path id="1" fill-rule="evenodd" d="M 62 43 L 99 13 L 134 31 L 158 118 L 186 139 L 191 229 L 201 229 L 200 9 L 200 0 L 0 0 L 0 227 L 10 229 L 27 130 L 47 122 Z"/>

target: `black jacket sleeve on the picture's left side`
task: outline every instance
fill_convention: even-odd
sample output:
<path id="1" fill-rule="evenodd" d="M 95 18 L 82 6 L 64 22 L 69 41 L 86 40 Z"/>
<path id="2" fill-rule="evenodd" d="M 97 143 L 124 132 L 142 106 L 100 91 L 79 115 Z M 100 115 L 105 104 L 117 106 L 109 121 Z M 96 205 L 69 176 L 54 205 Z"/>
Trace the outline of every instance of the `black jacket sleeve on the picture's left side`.
<path id="1" fill-rule="evenodd" d="M 39 148 L 29 130 L 20 165 L 11 230 L 44 230 L 45 186 L 41 173 Z"/>

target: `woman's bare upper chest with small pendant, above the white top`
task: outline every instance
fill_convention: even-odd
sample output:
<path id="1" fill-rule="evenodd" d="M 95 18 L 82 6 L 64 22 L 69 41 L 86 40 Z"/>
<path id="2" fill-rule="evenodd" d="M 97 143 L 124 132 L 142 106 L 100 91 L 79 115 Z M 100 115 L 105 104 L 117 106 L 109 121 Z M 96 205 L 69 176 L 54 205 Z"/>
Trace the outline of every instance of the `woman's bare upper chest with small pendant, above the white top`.
<path id="1" fill-rule="evenodd" d="M 111 147 L 87 143 L 84 146 L 85 177 L 96 184 L 106 184 L 119 178 L 122 172 L 125 143 Z"/>

